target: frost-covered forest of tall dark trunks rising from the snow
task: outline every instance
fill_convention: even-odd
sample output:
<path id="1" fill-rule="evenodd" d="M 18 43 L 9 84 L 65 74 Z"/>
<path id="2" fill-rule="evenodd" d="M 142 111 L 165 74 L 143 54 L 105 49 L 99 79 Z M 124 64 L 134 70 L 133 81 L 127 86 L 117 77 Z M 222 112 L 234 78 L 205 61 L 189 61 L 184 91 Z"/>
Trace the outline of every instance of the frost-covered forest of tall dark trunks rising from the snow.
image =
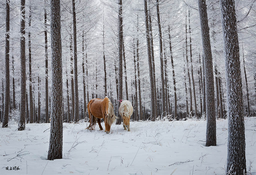
<path id="1" fill-rule="evenodd" d="M 48 123 L 48 160 L 62 159 L 63 125 L 91 126 L 88 103 L 108 97 L 116 125 L 122 100 L 132 122 L 205 121 L 206 147 L 227 122 L 226 174 L 246 173 L 255 0 L 2 0 L 0 14 L 0 122 Z"/>

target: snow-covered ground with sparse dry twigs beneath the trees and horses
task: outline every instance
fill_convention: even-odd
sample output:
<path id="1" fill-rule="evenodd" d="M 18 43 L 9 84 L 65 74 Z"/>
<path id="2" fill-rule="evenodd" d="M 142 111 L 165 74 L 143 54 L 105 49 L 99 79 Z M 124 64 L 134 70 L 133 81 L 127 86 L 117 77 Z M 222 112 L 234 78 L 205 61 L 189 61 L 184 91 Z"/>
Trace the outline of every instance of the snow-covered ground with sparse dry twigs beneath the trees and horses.
<path id="1" fill-rule="evenodd" d="M 46 160 L 49 123 L 1 128 L 0 174 L 225 174 L 227 120 L 217 120 L 210 147 L 206 121 L 130 122 L 131 132 L 113 124 L 110 134 L 87 125 L 63 124 L 63 159 L 53 161 Z M 245 128 L 247 173 L 256 174 L 256 118 L 245 118 Z"/>

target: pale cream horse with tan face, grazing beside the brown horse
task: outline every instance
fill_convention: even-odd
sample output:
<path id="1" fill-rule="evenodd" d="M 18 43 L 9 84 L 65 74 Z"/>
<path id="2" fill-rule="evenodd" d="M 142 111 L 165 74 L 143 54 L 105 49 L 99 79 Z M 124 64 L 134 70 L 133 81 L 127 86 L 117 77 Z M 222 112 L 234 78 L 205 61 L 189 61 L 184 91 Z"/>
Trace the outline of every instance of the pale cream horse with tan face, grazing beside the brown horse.
<path id="1" fill-rule="evenodd" d="M 118 112 L 123 119 L 124 130 L 126 130 L 127 127 L 128 131 L 130 131 L 130 118 L 133 113 L 132 103 L 128 100 L 122 101 L 118 109 Z"/>

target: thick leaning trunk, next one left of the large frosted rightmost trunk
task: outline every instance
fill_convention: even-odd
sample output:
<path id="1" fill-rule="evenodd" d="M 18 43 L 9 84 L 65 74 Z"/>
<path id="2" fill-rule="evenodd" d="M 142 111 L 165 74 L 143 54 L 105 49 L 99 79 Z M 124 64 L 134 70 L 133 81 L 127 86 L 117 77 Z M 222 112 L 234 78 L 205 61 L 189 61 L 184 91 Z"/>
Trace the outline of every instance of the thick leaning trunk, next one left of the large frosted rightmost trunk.
<path id="1" fill-rule="evenodd" d="M 216 116 L 214 102 L 214 76 L 212 70 L 212 54 L 210 34 L 205 0 L 198 1 L 201 23 L 201 36 L 205 64 L 205 95 L 206 95 L 206 144 L 216 146 Z"/>

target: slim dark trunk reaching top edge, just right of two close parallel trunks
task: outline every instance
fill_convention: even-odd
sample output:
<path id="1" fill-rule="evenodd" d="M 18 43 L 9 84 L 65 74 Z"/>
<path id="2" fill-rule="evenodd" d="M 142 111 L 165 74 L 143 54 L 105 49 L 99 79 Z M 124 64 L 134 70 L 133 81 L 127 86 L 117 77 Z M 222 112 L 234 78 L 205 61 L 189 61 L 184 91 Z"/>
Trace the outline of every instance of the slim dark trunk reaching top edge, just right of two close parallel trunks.
<path id="1" fill-rule="evenodd" d="M 161 32 L 161 24 L 160 24 L 160 16 L 159 16 L 159 3 L 156 0 L 156 13 L 157 13 L 157 24 L 158 24 L 158 32 L 159 32 L 159 48 L 160 48 L 160 72 L 161 72 L 161 85 L 162 85 L 162 115 L 166 115 L 166 104 L 165 104 L 165 81 L 164 81 L 164 59 L 163 59 L 163 44 L 162 44 L 162 32 Z"/>

